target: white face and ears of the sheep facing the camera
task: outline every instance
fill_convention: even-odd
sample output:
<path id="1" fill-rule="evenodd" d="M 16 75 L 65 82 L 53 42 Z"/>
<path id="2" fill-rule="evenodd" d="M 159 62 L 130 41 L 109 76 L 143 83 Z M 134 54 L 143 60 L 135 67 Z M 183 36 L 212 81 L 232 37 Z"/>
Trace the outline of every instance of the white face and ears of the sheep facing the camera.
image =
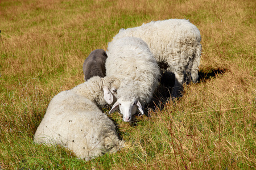
<path id="1" fill-rule="evenodd" d="M 136 113 L 138 107 L 139 111 L 144 114 L 141 103 L 135 97 L 125 100 L 122 97 L 115 102 L 109 114 L 113 113 L 119 107 L 120 112 L 123 114 L 123 121 L 130 122 L 131 116 Z"/>

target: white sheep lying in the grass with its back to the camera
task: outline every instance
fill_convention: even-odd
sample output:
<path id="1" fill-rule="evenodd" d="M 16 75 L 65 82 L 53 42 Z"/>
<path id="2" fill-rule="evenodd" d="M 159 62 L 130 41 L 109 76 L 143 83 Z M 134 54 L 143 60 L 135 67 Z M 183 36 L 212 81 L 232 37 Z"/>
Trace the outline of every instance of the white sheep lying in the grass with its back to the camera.
<path id="1" fill-rule="evenodd" d="M 118 84 L 114 78 L 93 76 L 54 96 L 36 130 L 35 143 L 68 147 L 85 160 L 120 150 L 125 142 L 118 138 L 114 123 L 96 105 L 106 103 L 102 88 L 111 89 Z"/>

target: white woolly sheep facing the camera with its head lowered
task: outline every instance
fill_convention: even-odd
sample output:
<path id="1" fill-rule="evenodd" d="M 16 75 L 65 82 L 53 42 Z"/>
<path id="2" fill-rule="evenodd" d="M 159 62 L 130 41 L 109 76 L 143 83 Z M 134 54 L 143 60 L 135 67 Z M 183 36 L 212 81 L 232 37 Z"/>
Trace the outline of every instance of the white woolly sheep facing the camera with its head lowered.
<path id="1" fill-rule="evenodd" d="M 123 121 L 130 122 L 136 106 L 143 114 L 144 104 L 150 102 L 158 86 L 159 66 L 147 44 L 137 37 L 109 42 L 106 53 L 106 76 L 115 76 L 120 81 L 117 101 L 109 114 L 119 107 Z"/>

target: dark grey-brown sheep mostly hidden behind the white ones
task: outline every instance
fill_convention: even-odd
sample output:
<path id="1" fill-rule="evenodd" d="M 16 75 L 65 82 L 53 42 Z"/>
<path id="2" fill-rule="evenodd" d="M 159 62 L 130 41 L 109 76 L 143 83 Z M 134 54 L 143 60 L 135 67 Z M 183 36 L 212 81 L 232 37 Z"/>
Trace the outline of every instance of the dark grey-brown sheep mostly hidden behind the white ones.
<path id="1" fill-rule="evenodd" d="M 108 58 L 108 56 L 103 49 L 93 50 L 89 54 L 82 65 L 85 81 L 96 75 L 100 77 L 106 76 L 106 58 Z"/>

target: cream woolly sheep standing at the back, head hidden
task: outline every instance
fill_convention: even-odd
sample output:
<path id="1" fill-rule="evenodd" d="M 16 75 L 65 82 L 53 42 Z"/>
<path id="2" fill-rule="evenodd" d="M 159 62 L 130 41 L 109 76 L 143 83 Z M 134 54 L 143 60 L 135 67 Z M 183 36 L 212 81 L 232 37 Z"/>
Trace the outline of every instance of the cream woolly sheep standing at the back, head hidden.
<path id="1" fill-rule="evenodd" d="M 139 27 L 120 29 L 113 41 L 138 37 L 146 42 L 156 61 L 168 64 L 175 75 L 173 97 L 180 95 L 183 83 L 197 82 L 201 55 L 200 31 L 185 19 L 152 21 Z M 170 83 L 169 83 L 170 84 Z"/>

